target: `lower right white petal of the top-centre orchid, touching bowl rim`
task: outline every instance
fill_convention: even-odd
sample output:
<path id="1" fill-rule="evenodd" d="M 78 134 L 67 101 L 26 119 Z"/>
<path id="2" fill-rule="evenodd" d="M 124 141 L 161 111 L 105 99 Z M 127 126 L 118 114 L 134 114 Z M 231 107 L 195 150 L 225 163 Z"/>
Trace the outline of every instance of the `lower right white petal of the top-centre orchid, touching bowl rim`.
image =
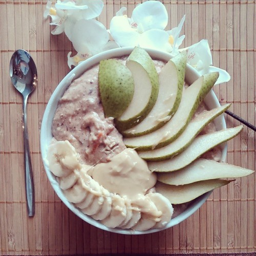
<path id="1" fill-rule="evenodd" d="M 169 35 L 161 29 L 151 29 L 141 34 L 139 46 L 159 51 L 171 52 L 172 46 L 168 42 Z"/>

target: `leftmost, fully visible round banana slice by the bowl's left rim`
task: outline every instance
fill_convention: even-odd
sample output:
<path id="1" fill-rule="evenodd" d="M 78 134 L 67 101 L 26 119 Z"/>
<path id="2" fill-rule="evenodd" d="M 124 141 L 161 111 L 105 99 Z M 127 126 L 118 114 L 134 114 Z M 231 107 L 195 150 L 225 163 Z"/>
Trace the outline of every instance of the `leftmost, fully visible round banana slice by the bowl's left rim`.
<path id="1" fill-rule="evenodd" d="M 57 177 L 68 176 L 80 169 L 79 155 L 68 140 L 56 141 L 48 147 L 47 159 L 51 172 Z"/>

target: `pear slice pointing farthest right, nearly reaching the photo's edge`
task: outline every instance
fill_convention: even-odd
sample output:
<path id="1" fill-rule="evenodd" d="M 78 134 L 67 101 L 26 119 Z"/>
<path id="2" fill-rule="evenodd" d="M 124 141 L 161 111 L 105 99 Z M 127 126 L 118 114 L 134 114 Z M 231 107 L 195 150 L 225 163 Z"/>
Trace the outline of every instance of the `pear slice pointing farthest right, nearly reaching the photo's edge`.
<path id="1" fill-rule="evenodd" d="M 245 177 L 253 173 L 254 170 L 240 166 L 200 158 L 177 172 L 159 173 L 157 180 L 169 185 L 184 185 L 201 180 Z"/>

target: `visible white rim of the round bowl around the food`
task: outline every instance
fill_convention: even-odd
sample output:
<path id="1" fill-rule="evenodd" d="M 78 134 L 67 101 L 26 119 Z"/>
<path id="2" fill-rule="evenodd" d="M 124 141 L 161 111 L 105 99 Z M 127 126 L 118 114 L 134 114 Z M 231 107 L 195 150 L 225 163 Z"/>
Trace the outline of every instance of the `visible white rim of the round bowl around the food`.
<path id="1" fill-rule="evenodd" d="M 78 208 L 76 208 L 72 203 L 70 203 L 66 197 L 63 195 L 62 190 L 60 189 L 56 177 L 50 172 L 48 161 L 47 161 L 47 149 L 48 145 L 52 141 L 52 132 L 51 132 L 51 126 L 52 126 L 52 120 L 55 114 L 55 111 L 57 109 L 58 101 L 63 95 L 63 93 L 66 91 L 66 89 L 69 87 L 72 80 L 78 78 L 81 74 L 84 73 L 87 69 L 91 68 L 95 64 L 99 63 L 100 60 L 106 59 L 106 58 L 113 58 L 113 57 L 121 57 L 124 55 L 129 55 L 132 52 L 133 48 L 118 48 L 113 49 L 109 51 L 105 51 L 102 53 L 99 53 L 87 60 L 84 60 L 82 63 L 80 63 L 77 67 L 75 67 L 65 78 L 62 79 L 62 81 L 58 84 L 57 88 L 53 92 L 45 113 L 44 117 L 42 119 L 41 124 L 41 134 L 40 134 L 40 144 L 41 144 L 41 156 L 42 160 L 44 162 L 44 166 L 46 169 L 46 174 L 48 176 L 49 181 L 51 182 L 51 185 L 53 189 L 55 190 L 58 197 L 61 199 L 63 203 L 65 203 L 70 210 L 74 212 L 75 215 L 77 215 L 82 220 L 92 224 L 95 227 L 101 228 L 103 230 L 116 232 L 116 233 L 122 233 L 122 234 L 145 234 L 145 233 L 152 233 L 156 232 L 162 229 L 166 229 L 169 227 L 172 227 L 174 225 L 177 225 L 178 223 L 182 222 L 183 220 L 187 219 L 190 215 L 192 215 L 209 197 L 211 194 L 211 191 L 200 196 L 199 198 L 195 199 L 194 201 L 191 201 L 191 203 L 188 205 L 188 207 L 178 216 L 174 217 L 164 228 L 162 229 L 150 229 L 147 231 L 134 231 L 134 230 L 126 230 L 126 229 L 120 229 L 120 228 L 108 228 L 101 224 L 99 221 L 96 221 L 92 219 L 90 216 L 84 215 Z M 160 59 L 163 61 L 168 61 L 172 55 L 168 53 L 163 53 L 156 50 L 148 50 L 146 51 L 151 55 L 153 59 Z M 187 65 L 186 67 L 186 73 L 185 73 L 185 80 L 188 84 L 193 83 L 197 78 L 199 78 L 198 72 L 192 68 L 191 66 Z M 217 106 L 220 106 L 220 103 L 215 95 L 215 93 L 211 90 L 208 95 L 205 97 L 205 104 L 209 109 L 216 108 Z M 221 115 L 218 118 L 215 119 L 215 125 L 217 127 L 217 130 L 225 129 L 226 123 L 224 116 Z M 226 153 L 227 153 L 227 145 L 224 144 L 222 147 L 222 161 L 225 161 L 226 159 Z"/>

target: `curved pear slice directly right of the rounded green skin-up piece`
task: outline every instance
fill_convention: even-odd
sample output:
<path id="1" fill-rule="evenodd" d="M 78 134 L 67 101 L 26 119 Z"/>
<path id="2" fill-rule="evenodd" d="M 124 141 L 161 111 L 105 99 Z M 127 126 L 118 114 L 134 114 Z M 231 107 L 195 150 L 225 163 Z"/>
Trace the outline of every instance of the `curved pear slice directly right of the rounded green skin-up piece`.
<path id="1" fill-rule="evenodd" d="M 118 131 L 130 129 L 140 123 L 156 103 L 159 81 L 156 67 L 150 55 L 135 47 L 126 61 L 134 78 L 134 95 L 124 113 L 115 120 Z"/>

